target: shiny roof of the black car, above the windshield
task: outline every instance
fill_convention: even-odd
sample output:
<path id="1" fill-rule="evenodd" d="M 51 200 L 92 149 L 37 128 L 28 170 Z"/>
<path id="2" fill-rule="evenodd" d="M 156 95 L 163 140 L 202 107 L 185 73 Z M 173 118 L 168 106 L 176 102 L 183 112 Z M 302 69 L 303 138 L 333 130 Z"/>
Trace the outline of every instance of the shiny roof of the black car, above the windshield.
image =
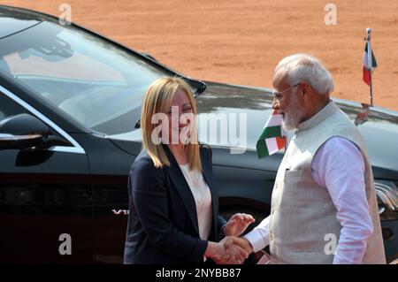
<path id="1" fill-rule="evenodd" d="M 38 12 L 0 5 L 0 39 L 41 23 L 46 17 Z"/>

